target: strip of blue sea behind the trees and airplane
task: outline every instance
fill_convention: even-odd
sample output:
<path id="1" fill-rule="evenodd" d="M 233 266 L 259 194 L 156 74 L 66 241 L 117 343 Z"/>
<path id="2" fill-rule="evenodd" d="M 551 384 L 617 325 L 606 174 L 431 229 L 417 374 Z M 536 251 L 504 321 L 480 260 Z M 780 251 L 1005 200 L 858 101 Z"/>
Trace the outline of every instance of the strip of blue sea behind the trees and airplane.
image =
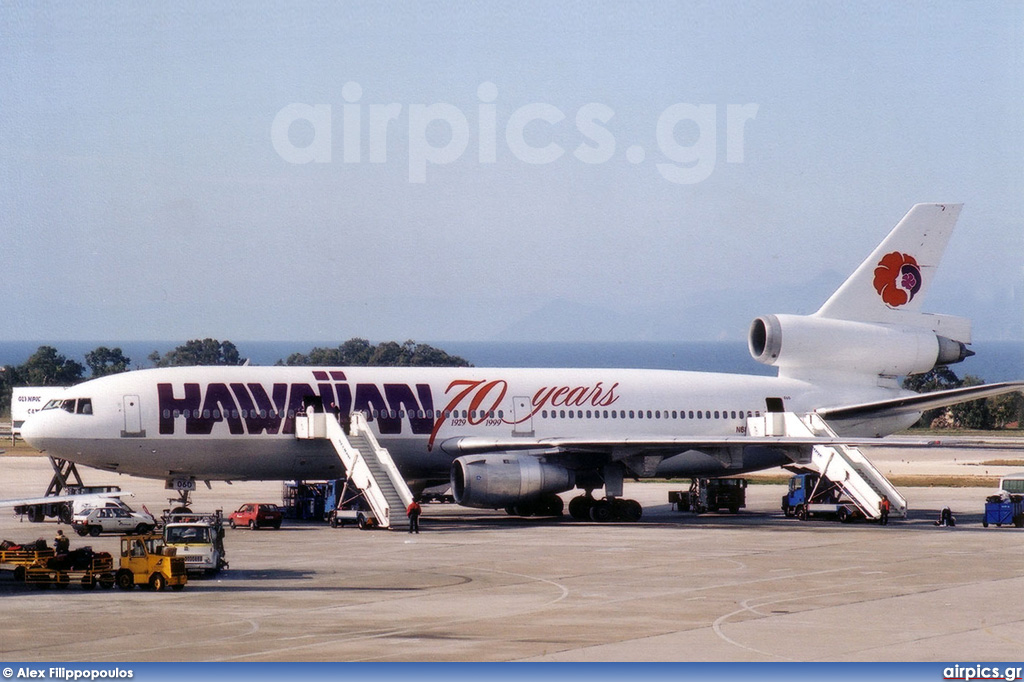
<path id="1" fill-rule="evenodd" d="M 295 352 L 316 346 L 337 346 L 323 341 L 233 341 L 251 365 L 273 365 Z M 22 365 L 41 345 L 85 364 L 85 353 L 98 346 L 119 347 L 134 369 L 151 367 L 153 351 L 165 353 L 176 341 L 0 341 L 0 366 Z M 637 368 L 690 370 L 771 376 L 774 368 L 761 365 L 742 341 L 720 342 L 497 342 L 428 341 L 447 353 L 464 357 L 475 367 L 515 368 Z M 952 367 L 957 376 L 972 375 L 985 382 L 1024 380 L 1024 342 L 978 341 L 976 355 Z"/>

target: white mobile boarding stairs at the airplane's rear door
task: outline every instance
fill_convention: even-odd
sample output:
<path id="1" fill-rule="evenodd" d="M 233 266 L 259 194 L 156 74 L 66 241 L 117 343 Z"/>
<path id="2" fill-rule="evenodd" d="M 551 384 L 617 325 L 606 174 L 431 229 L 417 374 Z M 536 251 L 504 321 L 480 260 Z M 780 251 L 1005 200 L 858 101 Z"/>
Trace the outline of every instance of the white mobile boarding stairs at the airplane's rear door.
<path id="1" fill-rule="evenodd" d="M 839 434 L 814 413 L 776 412 L 752 417 L 748 419 L 746 432 L 753 436 L 840 439 Z M 800 460 L 798 463 L 810 465 L 823 478 L 839 486 L 865 518 L 879 518 L 882 496 L 889 498 L 890 515 L 906 518 L 906 499 L 874 468 L 860 449 L 839 442 L 816 444 L 811 450 L 809 461 Z"/>

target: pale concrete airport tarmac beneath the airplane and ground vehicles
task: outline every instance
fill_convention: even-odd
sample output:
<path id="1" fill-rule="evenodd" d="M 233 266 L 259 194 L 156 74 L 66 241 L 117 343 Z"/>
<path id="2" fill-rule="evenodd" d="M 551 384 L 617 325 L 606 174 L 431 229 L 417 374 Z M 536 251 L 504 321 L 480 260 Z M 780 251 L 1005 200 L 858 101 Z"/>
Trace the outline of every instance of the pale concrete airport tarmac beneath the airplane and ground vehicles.
<path id="1" fill-rule="evenodd" d="M 876 450 L 884 471 L 999 475 L 1005 451 Z M 43 457 L 0 457 L 0 498 L 38 496 Z M 162 481 L 82 470 L 168 506 Z M 280 482 L 214 482 L 193 508 L 280 502 Z M 680 482 L 627 482 L 636 523 L 424 505 L 423 531 L 226 531 L 230 568 L 181 592 L 37 590 L 0 577 L 12 662 L 1012 662 L 1024 651 L 1024 529 L 981 525 L 990 487 L 902 488 L 888 526 L 783 517 L 783 486 L 739 514 L 675 511 Z M 566 496 L 568 497 L 568 496 Z M 949 505 L 953 528 L 936 527 Z M 0 515 L 0 539 L 58 526 Z M 67 532 L 67 529 L 66 529 Z M 114 536 L 79 538 L 115 556 Z"/>

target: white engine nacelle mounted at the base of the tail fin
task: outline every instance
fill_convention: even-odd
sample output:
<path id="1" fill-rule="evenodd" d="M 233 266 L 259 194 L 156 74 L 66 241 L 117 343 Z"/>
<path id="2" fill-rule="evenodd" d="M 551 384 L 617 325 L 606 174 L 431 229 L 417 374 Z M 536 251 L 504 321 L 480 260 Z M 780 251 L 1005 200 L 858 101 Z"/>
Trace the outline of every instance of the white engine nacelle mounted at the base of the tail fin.
<path id="1" fill-rule="evenodd" d="M 816 317 L 763 315 L 751 325 L 751 355 L 784 370 L 861 375 L 922 374 L 974 353 L 927 329 Z"/>

